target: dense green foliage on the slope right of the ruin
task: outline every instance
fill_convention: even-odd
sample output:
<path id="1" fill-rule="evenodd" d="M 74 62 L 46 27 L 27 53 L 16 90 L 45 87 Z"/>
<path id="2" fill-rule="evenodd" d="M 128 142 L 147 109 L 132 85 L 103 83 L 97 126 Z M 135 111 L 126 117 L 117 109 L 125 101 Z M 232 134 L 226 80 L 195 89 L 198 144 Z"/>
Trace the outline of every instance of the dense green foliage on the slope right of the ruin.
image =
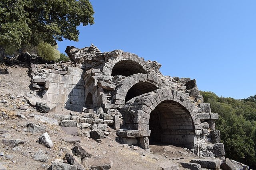
<path id="1" fill-rule="evenodd" d="M 216 128 L 220 130 L 226 156 L 256 168 L 256 100 L 218 97 L 200 92 L 212 112 L 219 113 Z M 256 95 L 255 95 L 256 96 Z M 254 96 L 254 97 L 255 97 Z"/>

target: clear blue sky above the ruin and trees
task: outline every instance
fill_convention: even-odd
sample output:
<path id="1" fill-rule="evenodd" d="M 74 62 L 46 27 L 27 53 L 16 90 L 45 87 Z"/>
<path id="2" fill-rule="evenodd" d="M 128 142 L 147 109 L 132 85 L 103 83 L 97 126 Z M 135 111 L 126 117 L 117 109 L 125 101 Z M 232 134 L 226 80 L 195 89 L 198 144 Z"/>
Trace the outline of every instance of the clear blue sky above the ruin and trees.
<path id="1" fill-rule="evenodd" d="M 79 41 L 162 64 L 164 75 L 196 79 L 199 90 L 235 99 L 256 94 L 255 0 L 91 0 L 95 24 Z"/>

